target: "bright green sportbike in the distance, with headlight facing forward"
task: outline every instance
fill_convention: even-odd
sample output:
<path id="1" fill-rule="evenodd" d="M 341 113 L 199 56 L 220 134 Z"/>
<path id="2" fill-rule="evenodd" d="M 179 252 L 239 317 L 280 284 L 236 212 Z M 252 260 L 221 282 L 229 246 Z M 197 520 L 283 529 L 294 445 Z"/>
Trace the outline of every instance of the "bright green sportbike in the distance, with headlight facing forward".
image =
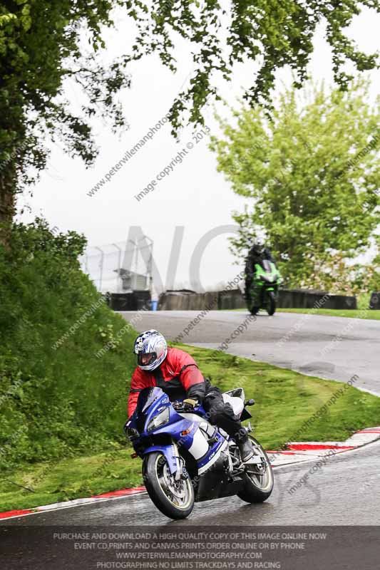
<path id="1" fill-rule="evenodd" d="M 269 316 L 274 315 L 281 282 L 282 277 L 272 261 L 264 259 L 262 265 L 255 264 L 252 278 L 246 277 L 245 281 L 245 299 L 252 315 L 260 309 L 265 309 Z"/>

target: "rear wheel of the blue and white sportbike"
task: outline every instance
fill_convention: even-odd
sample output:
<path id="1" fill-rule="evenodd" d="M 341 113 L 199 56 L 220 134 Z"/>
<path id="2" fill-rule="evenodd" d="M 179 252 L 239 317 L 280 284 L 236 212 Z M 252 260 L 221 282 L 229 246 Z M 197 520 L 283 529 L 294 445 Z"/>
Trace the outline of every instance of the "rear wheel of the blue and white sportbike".
<path id="1" fill-rule="evenodd" d="M 237 496 L 247 503 L 262 503 L 272 494 L 274 484 L 272 465 L 255 437 L 250 437 L 250 440 L 255 449 L 255 455 L 261 457 L 262 465 L 257 467 L 252 464 L 250 467 L 250 464 L 247 464 L 245 473 L 242 475 L 244 488 L 237 493 Z"/>

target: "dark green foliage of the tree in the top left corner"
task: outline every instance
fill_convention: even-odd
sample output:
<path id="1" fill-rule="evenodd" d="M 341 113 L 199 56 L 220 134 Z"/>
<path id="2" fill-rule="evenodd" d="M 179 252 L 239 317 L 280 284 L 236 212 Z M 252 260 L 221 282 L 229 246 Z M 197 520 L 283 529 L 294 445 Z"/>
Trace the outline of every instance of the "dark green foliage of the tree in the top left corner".
<path id="1" fill-rule="evenodd" d="M 0 6 L 0 220 L 13 214 L 7 195 L 20 192 L 46 165 L 50 134 L 87 165 L 97 149 L 89 118 L 125 125 L 115 94 L 130 85 L 125 61 L 103 66 L 101 32 L 113 25 L 111 9 L 122 0 L 17 0 Z M 86 37 L 91 51 L 83 49 Z M 74 111 L 63 83 L 83 89 Z M 31 170 L 32 169 L 34 170 Z"/>

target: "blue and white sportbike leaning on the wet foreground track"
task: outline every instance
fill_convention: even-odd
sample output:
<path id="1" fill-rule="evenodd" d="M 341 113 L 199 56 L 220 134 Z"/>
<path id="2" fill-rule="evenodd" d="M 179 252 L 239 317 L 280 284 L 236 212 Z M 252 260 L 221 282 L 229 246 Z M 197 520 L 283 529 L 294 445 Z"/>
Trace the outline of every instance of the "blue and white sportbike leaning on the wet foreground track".
<path id="1" fill-rule="evenodd" d="M 223 399 L 240 420 L 252 418 L 245 406 L 255 402 L 245 401 L 242 388 L 224 393 Z M 250 425 L 244 429 L 252 431 Z M 170 402 L 160 388 L 144 388 L 125 432 L 133 457 L 143 459 L 150 499 L 170 519 L 188 517 L 195 502 L 236 494 L 256 503 L 272 493 L 272 467 L 260 443 L 250 437 L 255 453 L 243 463 L 235 442 L 207 421 L 202 405 L 188 412 L 183 402 Z"/>

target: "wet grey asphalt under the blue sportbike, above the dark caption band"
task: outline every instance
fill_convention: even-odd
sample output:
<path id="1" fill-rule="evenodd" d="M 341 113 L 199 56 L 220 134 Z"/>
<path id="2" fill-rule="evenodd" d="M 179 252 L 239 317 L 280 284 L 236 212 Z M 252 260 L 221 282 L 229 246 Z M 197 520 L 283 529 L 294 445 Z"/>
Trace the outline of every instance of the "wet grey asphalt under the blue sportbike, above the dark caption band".
<path id="1" fill-rule="evenodd" d="M 183 521 L 170 521 L 154 507 L 148 494 L 141 494 L 19 517 L 0 523 L 0 528 L 81 524 L 168 528 L 194 524 L 380 525 L 380 441 L 329 457 L 324 467 L 309 475 L 307 484 L 289 492 L 315 464 L 274 468 L 274 491 L 262 504 L 247 504 L 238 497 L 205 501 L 195 504 L 191 516 Z"/>

